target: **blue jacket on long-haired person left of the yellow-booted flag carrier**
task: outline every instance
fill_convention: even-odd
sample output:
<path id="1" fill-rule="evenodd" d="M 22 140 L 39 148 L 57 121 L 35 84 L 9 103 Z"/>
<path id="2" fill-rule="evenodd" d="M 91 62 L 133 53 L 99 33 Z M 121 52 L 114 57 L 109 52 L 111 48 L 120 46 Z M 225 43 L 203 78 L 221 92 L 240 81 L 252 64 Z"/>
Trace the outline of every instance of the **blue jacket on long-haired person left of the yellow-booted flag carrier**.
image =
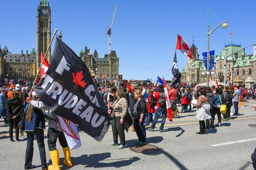
<path id="1" fill-rule="evenodd" d="M 26 108 L 26 115 L 27 115 L 28 108 L 29 107 Z M 45 129 L 45 119 L 44 119 L 44 113 L 41 111 L 41 109 L 34 107 L 31 122 L 29 123 L 25 119 L 25 130 L 33 131 L 35 130 L 36 127 Z"/>

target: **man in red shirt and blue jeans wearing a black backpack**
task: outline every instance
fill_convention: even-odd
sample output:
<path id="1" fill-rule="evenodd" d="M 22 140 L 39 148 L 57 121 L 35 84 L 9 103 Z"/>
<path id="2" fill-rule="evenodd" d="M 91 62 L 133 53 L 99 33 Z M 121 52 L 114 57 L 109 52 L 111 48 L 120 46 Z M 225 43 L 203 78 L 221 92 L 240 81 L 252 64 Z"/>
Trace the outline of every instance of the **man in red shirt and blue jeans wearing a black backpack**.
<path id="1" fill-rule="evenodd" d="M 157 111 L 155 113 L 154 120 L 152 122 L 151 127 L 148 128 L 148 131 L 151 131 L 151 132 L 154 131 L 154 127 L 157 124 L 157 120 L 162 114 L 163 115 L 162 123 L 161 123 L 161 126 L 159 128 L 159 132 L 162 133 L 163 132 L 163 126 L 165 124 L 166 116 L 167 116 L 166 100 L 165 100 L 163 85 L 159 85 L 159 91 L 155 92 L 154 95 L 155 95 L 154 97 L 157 99 Z"/>

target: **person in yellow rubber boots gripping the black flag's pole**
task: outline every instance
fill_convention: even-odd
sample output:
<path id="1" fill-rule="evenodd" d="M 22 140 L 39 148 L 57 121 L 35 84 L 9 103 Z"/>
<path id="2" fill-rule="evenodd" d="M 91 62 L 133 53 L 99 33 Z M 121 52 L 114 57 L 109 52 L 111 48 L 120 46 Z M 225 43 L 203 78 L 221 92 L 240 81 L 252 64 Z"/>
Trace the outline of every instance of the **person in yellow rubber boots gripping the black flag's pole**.
<path id="1" fill-rule="evenodd" d="M 60 122 L 58 121 L 58 116 L 51 112 L 49 106 L 44 104 L 44 102 L 41 101 L 34 101 L 31 100 L 29 97 L 26 99 L 27 103 L 30 103 L 31 105 L 35 106 L 36 108 L 39 108 L 43 111 L 45 115 L 47 115 L 47 119 L 49 120 L 49 129 L 48 129 L 48 147 L 50 156 L 52 159 L 52 165 L 48 166 L 48 170 L 61 170 L 59 166 L 59 154 L 58 150 L 56 148 L 56 142 L 57 139 L 59 140 L 61 147 L 63 149 L 63 153 L 65 156 L 64 164 L 67 165 L 67 167 L 72 167 L 73 164 L 71 162 L 70 157 L 70 148 L 67 145 L 67 140 L 65 138 L 65 135 L 62 131 Z M 45 111 L 49 111 L 48 113 Z"/>

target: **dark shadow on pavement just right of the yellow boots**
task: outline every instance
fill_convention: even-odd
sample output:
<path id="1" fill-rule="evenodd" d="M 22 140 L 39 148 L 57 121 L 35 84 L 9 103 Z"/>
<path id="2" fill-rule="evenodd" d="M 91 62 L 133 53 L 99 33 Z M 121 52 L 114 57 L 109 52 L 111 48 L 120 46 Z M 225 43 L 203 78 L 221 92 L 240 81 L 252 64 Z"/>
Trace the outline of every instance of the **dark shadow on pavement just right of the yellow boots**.
<path id="1" fill-rule="evenodd" d="M 135 161 L 140 160 L 138 157 L 124 158 L 124 159 L 108 159 L 111 153 L 98 153 L 92 155 L 82 155 L 79 157 L 71 157 L 73 166 L 78 164 L 86 165 L 85 167 L 125 167 L 131 165 Z M 60 158 L 60 164 L 63 165 L 64 158 Z M 101 162 L 100 162 L 101 161 Z M 49 162 L 50 163 L 50 162 Z M 69 169 L 70 167 L 63 166 L 61 170 Z M 66 170 L 65 169 L 65 170 Z"/>

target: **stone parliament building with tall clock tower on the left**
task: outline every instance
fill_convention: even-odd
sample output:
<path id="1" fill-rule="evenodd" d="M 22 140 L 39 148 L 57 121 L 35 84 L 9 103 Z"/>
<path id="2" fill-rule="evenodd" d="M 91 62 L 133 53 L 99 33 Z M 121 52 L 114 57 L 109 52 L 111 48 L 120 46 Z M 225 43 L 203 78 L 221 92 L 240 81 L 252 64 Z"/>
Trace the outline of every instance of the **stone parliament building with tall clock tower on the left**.
<path id="1" fill-rule="evenodd" d="M 12 54 L 5 45 L 3 49 L 0 46 L 0 75 L 4 77 L 32 77 L 36 76 L 37 68 L 41 64 L 41 52 L 45 54 L 47 47 L 51 41 L 51 7 L 48 0 L 41 0 L 37 8 L 37 48 L 29 51 L 26 54 Z M 78 55 L 85 62 L 89 69 L 94 73 L 98 73 L 99 78 L 105 74 L 106 79 L 118 79 L 119 77 L 119 58 L 116 56 L 116 51 L 111 51 L 110 56 L 105 54 L 104 58 L 99 58 L 97 51 L 93 54 L 90 49 L 81 50 Z M 51 60 L 51 48 L 49 48 L 47 61 Z M 97 69 L 97 71 L 96 71 Z"/>

